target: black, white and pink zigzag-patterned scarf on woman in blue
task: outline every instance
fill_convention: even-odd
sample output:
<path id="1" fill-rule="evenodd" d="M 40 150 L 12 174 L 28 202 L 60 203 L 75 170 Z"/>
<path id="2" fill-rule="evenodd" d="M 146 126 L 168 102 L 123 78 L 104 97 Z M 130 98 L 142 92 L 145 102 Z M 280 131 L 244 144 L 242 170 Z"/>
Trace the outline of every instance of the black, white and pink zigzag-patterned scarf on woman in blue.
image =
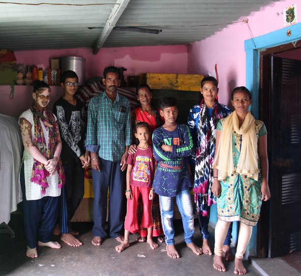
<path id="1" fill-rule="evenodd" d="M 200 117 L 198 123 L 198 142 L 196 145 L 196 166 L 194 177 L 194 209 L 195 213 L 209 215 L 209 207 L 216 203 L 211 193 L 213 183 L 213 159 L 215 152 L 216 125 L 219 119 L 224 118 L 221 107 L 215 101 L 211 118 L 208 116 L 204 99 L 200 104 Z"/>

